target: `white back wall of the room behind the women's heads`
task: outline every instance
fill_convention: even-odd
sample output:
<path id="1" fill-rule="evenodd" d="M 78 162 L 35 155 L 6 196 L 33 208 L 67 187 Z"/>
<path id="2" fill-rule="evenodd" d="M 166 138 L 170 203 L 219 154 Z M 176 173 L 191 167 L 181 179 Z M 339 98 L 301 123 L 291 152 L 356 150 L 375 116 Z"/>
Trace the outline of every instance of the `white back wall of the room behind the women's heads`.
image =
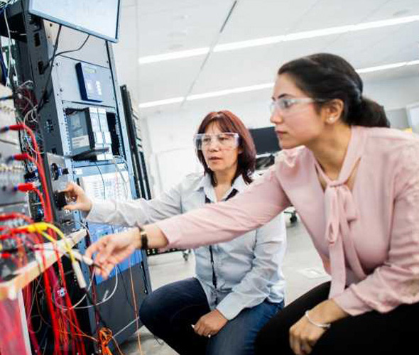
<path id="1" fill-rule="evenodd" d="M 408 104 L 419 102 L 419 76 L 366 82 L 364 94 L 385 107 L 393 126 L 403 128 L 406 124 L 404 109 Z M 205 114 L 229 109 L 249 128 L 269 126 L 270 97 L 271 90 L 266 89 L 197 100 L 185 104 L 183 109 L 176 108 L 163 113 L 144 111 L 141 116 L 154 194 L 167 190 L 188 173 L 200 170 L 192 137 Z"/>

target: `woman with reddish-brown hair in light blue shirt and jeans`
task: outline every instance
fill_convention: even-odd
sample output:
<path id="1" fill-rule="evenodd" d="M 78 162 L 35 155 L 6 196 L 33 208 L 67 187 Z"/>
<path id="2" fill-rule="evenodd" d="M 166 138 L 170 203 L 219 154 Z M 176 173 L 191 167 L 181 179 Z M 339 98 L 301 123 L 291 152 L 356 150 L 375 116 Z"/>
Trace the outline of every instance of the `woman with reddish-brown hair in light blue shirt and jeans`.
<path id="1" fill-rule="evenodd" d="M 67 192 L 77 202 L 66 208 L 89 212 L 91 222 L 136 226 L 228 200 L 252 182 L 254 142 L 232 112 L 209 113 L 195 135 L 195 147 L 205 173 L 188 175 L 156 199 L 92 203 L 72 184 Z M 257 332 L 283 307 L 285 244 L 280 215 L 234 241 L 196 249 L 196 277 L 148 295 L 141 322 L 179 354 L 254 354 Z"/>

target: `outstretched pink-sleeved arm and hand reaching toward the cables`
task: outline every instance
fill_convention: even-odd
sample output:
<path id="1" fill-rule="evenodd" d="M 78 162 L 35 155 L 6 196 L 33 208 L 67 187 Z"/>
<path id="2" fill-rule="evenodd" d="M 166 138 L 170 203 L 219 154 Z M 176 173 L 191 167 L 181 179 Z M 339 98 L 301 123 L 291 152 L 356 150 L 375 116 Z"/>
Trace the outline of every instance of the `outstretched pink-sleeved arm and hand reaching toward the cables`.
<path id="1" fill-rule="evenodd" d="M 148 234 L 149 248 L 197 246 L 229 241 L 259 228 L 288 207 L 290 202 L 281 187 L 274 167 L 263 177 L 227 202 L 208 204 L 143 228 Z M 124 239 L 124 241 L 121 241 Z M 87 249 L 88 256 L 98 252 L 97 263 L 111 268 L 124 256 L 141 246 L 138 229 L 111 234 Z M 111 256 L 117 256 L 114 260 Z M 122 260 L 122 259 L 121 259 Z M 102 273 L 102 271 L 99 271 Z"/>

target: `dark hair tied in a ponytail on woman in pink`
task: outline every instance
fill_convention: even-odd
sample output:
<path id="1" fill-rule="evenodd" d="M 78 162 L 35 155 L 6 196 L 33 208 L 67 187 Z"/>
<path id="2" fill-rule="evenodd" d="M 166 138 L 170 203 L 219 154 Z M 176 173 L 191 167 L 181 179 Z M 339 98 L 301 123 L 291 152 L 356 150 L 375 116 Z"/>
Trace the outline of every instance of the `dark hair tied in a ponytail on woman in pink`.
<path id="1" fill-rule="evenodd" d="M 383 107 L 362 96 L 363 83 L 354 67 L 338 55 L 318 53 L 285 63 L 278 75 L 290 75 L 310 97 L 344 102 L 342 120 L 349 126 L 389 127 Z"/>

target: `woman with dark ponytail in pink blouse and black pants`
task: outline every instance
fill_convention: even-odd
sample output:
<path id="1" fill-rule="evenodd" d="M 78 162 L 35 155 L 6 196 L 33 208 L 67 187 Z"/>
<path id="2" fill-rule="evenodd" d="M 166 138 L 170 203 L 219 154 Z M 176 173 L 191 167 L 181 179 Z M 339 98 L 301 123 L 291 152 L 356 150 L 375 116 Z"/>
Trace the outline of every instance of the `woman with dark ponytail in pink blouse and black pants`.
<path id="1" fill-rule="evenodd" d="M 293 204 L 332 280 L 278 312 L 259 332 L 256 354 L 413 349 L 419 319 L 419 139 L 389 129 L 383 108 L 362 90 L 357 72 L 337 55 L 283 65 L 271 104 L 283 151 L 273 168 L 228 202 L 90 246 L 87 256 L 99 251 L 95 260 L 106 268 L 97 272 L 107 275 L 134 247 L 232 240 Z"/>

